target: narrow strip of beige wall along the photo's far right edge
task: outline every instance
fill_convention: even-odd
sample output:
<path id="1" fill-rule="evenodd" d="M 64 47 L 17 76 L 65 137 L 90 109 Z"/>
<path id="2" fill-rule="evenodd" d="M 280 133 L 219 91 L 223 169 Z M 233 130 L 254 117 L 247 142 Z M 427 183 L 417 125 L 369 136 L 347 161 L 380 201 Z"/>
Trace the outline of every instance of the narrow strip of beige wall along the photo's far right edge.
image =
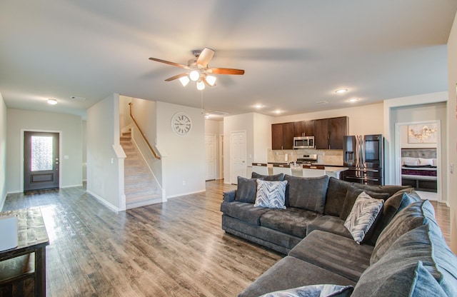
<path id="1" fill-rule="evenodd" d="M 457 15 L 448 39 L 448 193 L 451 206 L 451 249 L 457 253 Z M 450 165 L 453 164 L 453 173 Z"/>

